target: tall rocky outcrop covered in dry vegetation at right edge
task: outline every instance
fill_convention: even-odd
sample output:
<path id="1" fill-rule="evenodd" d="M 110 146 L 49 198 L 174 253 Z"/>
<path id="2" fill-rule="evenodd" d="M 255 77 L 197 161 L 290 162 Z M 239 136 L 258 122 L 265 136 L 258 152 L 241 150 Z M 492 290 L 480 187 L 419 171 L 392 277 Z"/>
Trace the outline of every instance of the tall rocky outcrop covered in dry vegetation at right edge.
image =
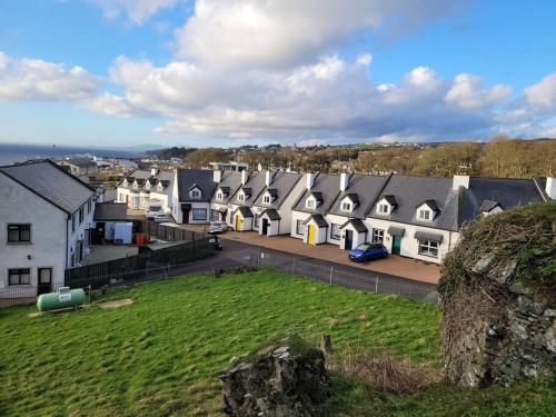
<path id="1" fill-rule="evenodd" d="M 464 229 L 439 282 L 446 377 L 461 386 L 556 375 L 555 205 Z"/>

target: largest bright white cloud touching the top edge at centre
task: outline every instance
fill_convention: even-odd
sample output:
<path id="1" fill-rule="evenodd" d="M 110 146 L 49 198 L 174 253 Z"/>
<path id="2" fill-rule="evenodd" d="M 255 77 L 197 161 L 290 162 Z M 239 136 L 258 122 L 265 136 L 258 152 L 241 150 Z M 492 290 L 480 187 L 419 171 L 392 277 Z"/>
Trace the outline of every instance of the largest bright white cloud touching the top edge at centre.
<path id="1" fill-rule="evenodd" d="M 306 63 L 357 30 L 411 30 L 454 8 L 446 0 L 197 0 L 176 31 L 177 54 L 211 67 Z M 396 24 L 394 27 L 394 24 Z"/>

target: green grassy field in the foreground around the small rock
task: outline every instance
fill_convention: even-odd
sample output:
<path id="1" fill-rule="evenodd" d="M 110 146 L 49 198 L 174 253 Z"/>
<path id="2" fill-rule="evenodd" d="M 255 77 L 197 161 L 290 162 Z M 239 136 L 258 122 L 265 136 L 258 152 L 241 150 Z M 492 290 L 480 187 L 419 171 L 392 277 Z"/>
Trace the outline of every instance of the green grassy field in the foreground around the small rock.
<path id="1" fill-rule="evenodd" d="M 336 349 L 387 348 L 439 369 L 438 309 L 281 272 L 190 276 L 110 292 L 102 310 L 29 317 L 0 309 L 1 416 L 219 415 L 219 369 L 290 329 L 330 332 Z M 555 386 L 463 390 L 441 385 L 388 395 L 334 376 L 322 416 L 554 415 Z"/>

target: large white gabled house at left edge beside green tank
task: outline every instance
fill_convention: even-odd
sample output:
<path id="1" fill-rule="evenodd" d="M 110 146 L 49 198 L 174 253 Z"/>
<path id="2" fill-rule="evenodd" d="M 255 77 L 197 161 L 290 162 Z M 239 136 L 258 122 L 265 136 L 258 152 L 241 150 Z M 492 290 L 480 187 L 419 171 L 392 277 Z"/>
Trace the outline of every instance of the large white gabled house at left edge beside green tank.
<path id="1" fill-rule="evenodd" d="M 0 295 L 63 285 L 88 254 L 95 191 L 50 160 L 0 168 Z M 20 296 L 22 292 L 20 292 Z"/>

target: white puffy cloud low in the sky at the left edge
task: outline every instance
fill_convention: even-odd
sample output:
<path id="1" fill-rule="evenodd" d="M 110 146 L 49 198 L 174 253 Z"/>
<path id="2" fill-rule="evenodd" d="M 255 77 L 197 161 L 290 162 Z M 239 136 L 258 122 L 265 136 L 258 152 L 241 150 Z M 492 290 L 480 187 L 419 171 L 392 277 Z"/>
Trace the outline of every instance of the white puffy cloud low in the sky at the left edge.
<path id="1" fill-rule="evenodd" d="M 97 87 L 97 79 L 81 67 L 0 52 L 0 100 L 81 100 L 91 97 Z"/>

